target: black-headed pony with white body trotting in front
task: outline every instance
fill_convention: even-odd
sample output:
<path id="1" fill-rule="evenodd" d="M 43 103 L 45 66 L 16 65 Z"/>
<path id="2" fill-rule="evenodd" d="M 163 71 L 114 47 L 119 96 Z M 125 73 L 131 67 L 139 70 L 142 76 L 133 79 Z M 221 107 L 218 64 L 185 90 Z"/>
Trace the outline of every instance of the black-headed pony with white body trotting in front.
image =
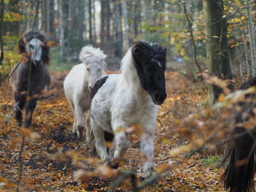
<path id="1" fill-rule="evenodd" d="M 140 147 L 145 178 L 154 173 L 153 139 L 157 105 L 166 99 L 166 49 L 157 43 L 132 43 L 121 63 L 121 74 L 97 81 L 91 92 L 88 145 L 104 164 L 117 168 L 131 142 L 127 127 L 141 125 Z M 107 152 L 104 137 L 113 138 Z"/>

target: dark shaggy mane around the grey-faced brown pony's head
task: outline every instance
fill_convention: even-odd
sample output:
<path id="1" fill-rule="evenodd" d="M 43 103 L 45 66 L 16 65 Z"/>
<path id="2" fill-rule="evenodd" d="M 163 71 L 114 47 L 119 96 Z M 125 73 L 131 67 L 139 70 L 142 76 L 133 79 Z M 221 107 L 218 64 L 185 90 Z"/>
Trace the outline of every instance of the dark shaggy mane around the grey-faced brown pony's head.
<path id="1" fill-rule="evenodd" d="M 19 38 L 18 42 L 18 53 L 23 54 L 26 53 L 25 45 L 30 42 L 33 38 L 38 38 L 42 41 L 42 56 L 41 59 L 45 65 L 50 64 L 50 54 L 49 54 L 49 47 L 47 46 L 48 40 L 45 38 L 43 33 L 39 31 L 26 31 L 21 38 Z"/>

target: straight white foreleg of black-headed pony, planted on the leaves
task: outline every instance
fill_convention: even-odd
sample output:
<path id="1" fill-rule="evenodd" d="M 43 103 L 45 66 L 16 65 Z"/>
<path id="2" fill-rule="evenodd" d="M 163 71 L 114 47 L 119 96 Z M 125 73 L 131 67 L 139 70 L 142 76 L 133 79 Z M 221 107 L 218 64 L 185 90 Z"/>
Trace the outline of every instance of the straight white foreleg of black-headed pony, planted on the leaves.
<path id="1" fill-rule="evenodd" d="M 144 177 L 148 178 L 154 174 L 154 134 L 143 132 L 140 138 L 141 153 L 145 155 L 142 158 Z"/>

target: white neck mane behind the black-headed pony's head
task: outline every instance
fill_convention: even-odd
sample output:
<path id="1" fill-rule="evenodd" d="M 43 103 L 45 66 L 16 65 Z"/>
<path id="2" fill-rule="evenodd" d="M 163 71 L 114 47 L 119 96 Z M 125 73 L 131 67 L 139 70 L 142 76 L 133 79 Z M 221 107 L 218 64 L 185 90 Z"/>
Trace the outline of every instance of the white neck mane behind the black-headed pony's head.
<path id="1" fill-rule="evenodd" d="M 139 78 L 134 59 L 132 58 L 131 48 L 128 49 L 122 59 L 120 71 L 122 71 L 122 78 L 127 85 L 131 85 L 133 80 Z"/>

